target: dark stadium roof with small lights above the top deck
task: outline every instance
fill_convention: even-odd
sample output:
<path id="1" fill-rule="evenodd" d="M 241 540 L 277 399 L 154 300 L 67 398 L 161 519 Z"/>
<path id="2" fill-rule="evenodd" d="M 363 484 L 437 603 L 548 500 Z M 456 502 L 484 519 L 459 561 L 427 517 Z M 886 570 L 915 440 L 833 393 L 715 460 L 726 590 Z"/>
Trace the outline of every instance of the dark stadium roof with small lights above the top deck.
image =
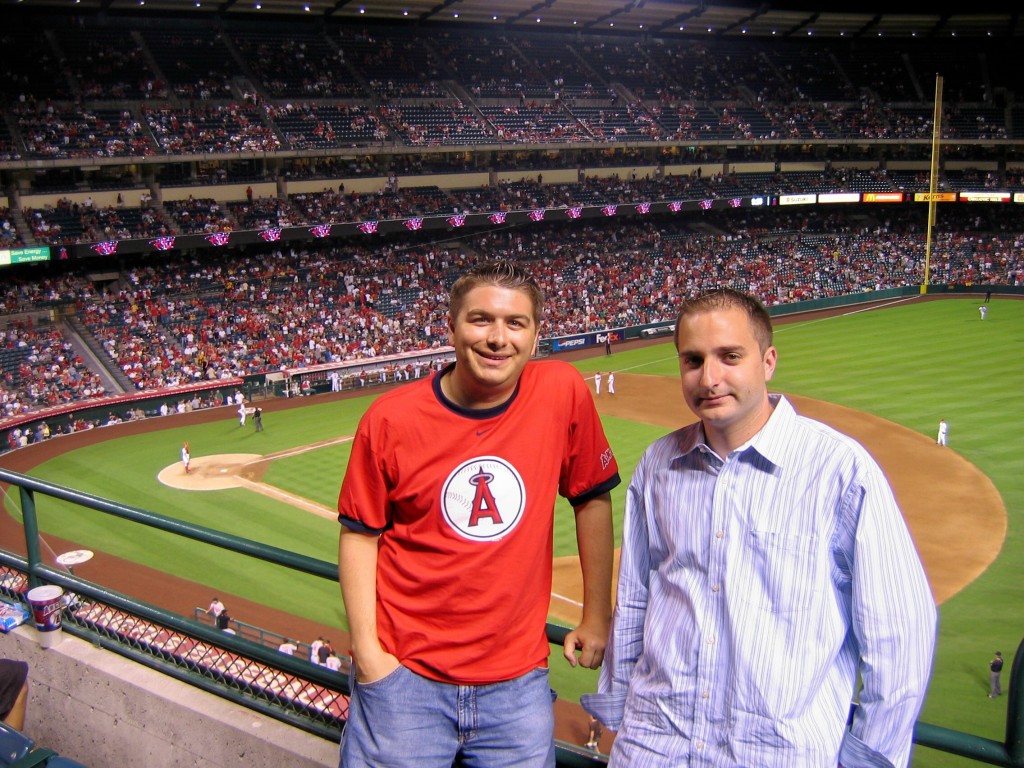
<path id="1" fill-rule="evenodd" d="M 956 5 L 754 0 L 2 0 L 17 9 L 69 14 L 193 14 L 228 18 L 319 18 L 338 23 L 439 23 L 645 34 L 657 37 L 1016 37 L 1017 2 Z M 942 4 L 945 5 L 945 4 Z M 2 7 L 2 6 L 0 6 Z M 935 6 L 931 6 L 934 8 Z"/>

